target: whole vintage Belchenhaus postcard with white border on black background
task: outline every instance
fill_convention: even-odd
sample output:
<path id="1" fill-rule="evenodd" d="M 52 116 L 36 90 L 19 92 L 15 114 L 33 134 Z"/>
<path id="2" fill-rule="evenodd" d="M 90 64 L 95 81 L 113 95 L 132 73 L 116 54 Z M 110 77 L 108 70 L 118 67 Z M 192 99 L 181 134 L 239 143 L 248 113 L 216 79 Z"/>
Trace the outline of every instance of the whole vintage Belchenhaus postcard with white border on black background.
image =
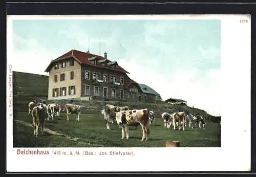
<path id="1" fill-rule="evenodd" d="M 7 172 L 250 170 L 250 27 L 8 15 Z"/>

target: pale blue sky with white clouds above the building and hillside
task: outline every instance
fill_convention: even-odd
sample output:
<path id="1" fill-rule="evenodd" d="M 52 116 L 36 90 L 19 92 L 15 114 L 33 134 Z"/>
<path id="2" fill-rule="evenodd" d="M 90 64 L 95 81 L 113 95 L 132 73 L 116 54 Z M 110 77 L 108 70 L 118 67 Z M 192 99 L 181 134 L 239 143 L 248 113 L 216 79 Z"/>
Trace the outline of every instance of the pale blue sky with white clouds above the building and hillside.
<path id="1" fill-rule="evenodd" d="M 220 115 L 219 19 L 15 19 L 12 38 L 13 71 L 48 75 L 51 60 L 72 49 L 106 52 L 163 100 Z"/>

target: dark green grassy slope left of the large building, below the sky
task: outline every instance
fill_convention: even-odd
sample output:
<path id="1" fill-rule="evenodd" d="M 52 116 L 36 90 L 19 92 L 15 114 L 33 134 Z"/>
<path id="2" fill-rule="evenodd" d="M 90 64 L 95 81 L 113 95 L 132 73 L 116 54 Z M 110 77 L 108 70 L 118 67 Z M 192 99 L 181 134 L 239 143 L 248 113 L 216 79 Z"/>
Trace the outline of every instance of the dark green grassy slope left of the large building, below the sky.
<path id="1" fill-rule="evenodd" d="M 48 96 L 48 76 L 13 72 L 13 95 Z"/>

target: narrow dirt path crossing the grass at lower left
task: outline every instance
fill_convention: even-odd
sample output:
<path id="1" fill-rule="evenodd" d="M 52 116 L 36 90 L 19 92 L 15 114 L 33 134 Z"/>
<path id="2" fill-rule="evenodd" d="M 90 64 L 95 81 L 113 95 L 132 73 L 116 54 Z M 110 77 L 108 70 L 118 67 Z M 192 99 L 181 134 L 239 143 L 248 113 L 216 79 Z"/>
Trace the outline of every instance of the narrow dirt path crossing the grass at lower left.
<path id="1" fill-rule="evenodd" d="M 21 124 L 23 124 L 23 125 L 27 125 L 27 126 L 33 127 L 32 124 L 27 123 L 27 122 L 24 122 L 24 121 L 22 121 L 22 120 L 16 120 L 16 119 L 15 119 L 14 121 L 15 121 L 15 122 L 18 122 L 18 123 L 21 123 Z M 69 140 L 71 140 L 71 141 L 77 142 L 78 144 L 84 145 L 84 147 L 101 147 L 100 145 L 91 144 L 91 143 L 86 143 L 86 142 L 82 142 L 82 141 L 77 141 L 78 138 L 71 138 L 71 137 L 68 136 L 68 135 L 61 134 L 61 133 L 59 133 L 59 132 L 57 132 L 57 131 L 54 131 L 54 130 L 51 130 L 51 129 L 47 128 L 47 127 L 44 127 L 44 131 L 48 132 L 48 133 L 51 134 L 51 135 L 56 135 L 56 136 L 65 137 L 65 138 L 67 138 L 67 139 L 69 139 Z"/>

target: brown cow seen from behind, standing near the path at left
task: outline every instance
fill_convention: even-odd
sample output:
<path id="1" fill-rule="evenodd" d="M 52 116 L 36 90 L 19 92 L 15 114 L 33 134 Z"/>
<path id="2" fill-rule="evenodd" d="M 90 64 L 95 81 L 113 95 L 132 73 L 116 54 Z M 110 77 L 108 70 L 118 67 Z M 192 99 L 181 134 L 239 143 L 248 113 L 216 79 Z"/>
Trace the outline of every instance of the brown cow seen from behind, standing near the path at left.
<path id="1" fill-rule="evenodd" d="M 34 135 L 38 136 L 38 128 L 41 128 L 41 134 L 44 135 L 45 110 L 43 107 L 35 106 L 32 109 Z"/>

